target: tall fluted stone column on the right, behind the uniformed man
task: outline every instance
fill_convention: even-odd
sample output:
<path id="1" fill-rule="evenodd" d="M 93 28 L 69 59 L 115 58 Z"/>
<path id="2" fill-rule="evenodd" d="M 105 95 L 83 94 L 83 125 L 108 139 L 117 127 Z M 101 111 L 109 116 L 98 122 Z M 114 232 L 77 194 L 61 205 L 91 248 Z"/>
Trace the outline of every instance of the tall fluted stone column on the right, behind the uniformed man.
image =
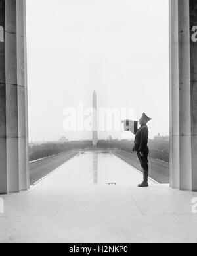
<path id="1" fill-rule="evenodd" d="M 197 1 L 169 1 L 171 187 L 197 191 Z"/>

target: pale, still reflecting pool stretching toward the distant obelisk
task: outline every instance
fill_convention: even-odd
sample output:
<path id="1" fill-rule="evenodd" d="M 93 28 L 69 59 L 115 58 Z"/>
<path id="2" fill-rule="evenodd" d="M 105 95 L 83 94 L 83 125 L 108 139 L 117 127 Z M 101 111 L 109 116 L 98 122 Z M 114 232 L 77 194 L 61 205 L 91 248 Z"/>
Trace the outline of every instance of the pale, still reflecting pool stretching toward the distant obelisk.
<path id="1" fill-rule="evenodd" d="M 62 165 L 47 179 L 56 185 L 134 185 L 142 180 L 142 174 L 125 164 L 110 152 L 81 152 Z M 151 181 L 150 181 L 151 183 Z"/>

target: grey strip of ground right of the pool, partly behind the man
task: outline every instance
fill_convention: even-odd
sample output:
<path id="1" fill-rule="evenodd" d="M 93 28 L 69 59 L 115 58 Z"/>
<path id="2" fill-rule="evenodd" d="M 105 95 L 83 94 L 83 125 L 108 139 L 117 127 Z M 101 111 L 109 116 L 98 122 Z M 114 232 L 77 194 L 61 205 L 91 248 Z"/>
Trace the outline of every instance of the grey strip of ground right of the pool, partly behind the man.
<path id="1" fill-rule="evenodd" d="M 135 153 L 118 150 L 113 152 L 113 154 L 121 158 L 121 160 L 127 162 L 127 164 L 137 168 L 137 170 L 142 171 L 141 165 L 139 164 L 139 160 Z M 169 183 L 169 164 L 152 158 L 149 158 L 149 163 L 149 176 L 158 183 Z"/>

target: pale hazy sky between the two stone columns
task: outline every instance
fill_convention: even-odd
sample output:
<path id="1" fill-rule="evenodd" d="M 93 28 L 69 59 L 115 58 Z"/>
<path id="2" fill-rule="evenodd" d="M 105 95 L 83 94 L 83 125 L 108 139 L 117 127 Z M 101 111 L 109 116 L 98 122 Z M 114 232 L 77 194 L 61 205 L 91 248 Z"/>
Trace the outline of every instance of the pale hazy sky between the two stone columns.
<path id="1" fill-rule="evenodd" d="M 26 0 L 30 139 L 91 139 L 64 131 L 78 102 L 134 108 L 152 117 L 150 137 L 169 133 L 167 0 Z M 133 138 L 131 133 L 100 132 Z"/>

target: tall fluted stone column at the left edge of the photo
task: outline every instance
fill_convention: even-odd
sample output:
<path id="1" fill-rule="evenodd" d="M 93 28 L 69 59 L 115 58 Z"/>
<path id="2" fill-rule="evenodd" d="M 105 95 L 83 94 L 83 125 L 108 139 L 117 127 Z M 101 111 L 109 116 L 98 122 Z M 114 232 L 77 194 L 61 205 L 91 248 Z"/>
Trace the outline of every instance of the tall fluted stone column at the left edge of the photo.
<path id="1" fill-rule="evenodd" d="M 28 189 L 25 0 L 0 0 L 0 193 Z"/>

